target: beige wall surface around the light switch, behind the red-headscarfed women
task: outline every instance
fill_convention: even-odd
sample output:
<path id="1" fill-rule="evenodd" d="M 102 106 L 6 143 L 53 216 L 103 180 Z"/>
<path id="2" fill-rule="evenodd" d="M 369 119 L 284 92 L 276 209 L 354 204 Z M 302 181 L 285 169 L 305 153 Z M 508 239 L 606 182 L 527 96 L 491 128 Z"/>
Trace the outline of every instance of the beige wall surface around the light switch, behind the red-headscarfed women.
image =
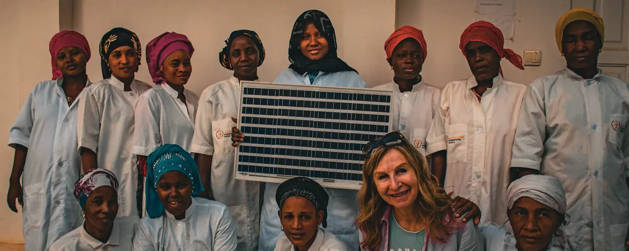
<path id="1" fill-rule="evenodd" d="M 523 56 L 524 50 L 542 51 L 539 67 L 515 68 L 502 60 L 504 77 L 528 85 L 538 77 L 565 67 L 555 43 L 555 24 L 571 7 L 570 0 L 517 1 L 515 36 L 505 41 L 505 48 Z M 428 57 L 422 76 L 426 82 L 443 88 L 448 82 L 469 78 L 472 74 L 459 50 L 460 35 L 474 22 L 473 0 L 398 0 L 396 27 L 413 25 L 421 29 L 428 44 Z"/>

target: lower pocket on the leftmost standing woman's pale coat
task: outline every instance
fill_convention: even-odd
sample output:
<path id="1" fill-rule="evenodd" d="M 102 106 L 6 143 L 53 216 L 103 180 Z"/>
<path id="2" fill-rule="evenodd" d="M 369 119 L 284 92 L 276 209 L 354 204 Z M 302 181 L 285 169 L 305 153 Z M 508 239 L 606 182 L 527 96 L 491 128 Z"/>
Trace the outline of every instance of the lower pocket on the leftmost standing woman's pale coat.
<path id="1" fill-rule="evenodd" d="M 25 228 L 40 228 L 44 212 L 44 191 L 42 183 L 24 187 L 24 208 L 26 215 Z"/>

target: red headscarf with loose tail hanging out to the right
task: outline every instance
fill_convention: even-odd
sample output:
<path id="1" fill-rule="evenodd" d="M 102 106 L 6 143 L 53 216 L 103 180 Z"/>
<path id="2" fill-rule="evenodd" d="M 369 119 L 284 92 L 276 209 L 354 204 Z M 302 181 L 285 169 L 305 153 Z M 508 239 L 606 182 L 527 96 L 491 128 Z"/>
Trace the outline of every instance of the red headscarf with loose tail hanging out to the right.
<path id="1" fill-rule="evenodd" d="M 524 70 L 521 56 L 517 55 L 511 49 L 504 48 L 503 32 L 494 26 L 494 24 L 486 21 L 477 21 L 476 23 L 472 23 L 470 26 L 467 26 L 467 29 L 463 31 L 463 34 L 461 34 L 461 42 L 459 43 L 459 48 L 461 48 L 463 55 L 465 55 L 465 45 L 467 45 L 470 41 L 486 43 L 498 53 L 498 56 L 506 58 L 509 62 L 515 65 L 515 67 Z M 500 75 L 502 74 L 503 69 L 501 67 Z"/>

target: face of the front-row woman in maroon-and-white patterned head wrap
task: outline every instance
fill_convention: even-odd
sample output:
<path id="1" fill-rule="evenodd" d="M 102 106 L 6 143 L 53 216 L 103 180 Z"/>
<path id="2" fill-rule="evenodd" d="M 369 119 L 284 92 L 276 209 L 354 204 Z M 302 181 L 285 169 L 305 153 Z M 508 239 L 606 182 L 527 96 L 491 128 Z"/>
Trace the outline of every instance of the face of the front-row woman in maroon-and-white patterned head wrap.
<path id="1" fill-rule="evenodd" d="M 92 237 L 106 243 L 118 215 L 118 193 L 111 186 L 93 190 L 83 206 L 85 228 Z"/>

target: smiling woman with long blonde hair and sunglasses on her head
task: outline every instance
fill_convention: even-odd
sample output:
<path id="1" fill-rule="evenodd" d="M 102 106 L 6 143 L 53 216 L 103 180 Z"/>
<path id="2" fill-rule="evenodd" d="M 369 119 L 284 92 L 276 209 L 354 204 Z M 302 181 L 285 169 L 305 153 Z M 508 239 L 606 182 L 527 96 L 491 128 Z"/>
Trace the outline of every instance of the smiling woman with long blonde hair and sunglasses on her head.
<path id="1" fill-rule="evenodd" d="M 363 152 L 356 220 L 362 250 L 484 249 L 477 227 L 455 218 L 454 201 L 402 134 L 390 132 Z"/>

